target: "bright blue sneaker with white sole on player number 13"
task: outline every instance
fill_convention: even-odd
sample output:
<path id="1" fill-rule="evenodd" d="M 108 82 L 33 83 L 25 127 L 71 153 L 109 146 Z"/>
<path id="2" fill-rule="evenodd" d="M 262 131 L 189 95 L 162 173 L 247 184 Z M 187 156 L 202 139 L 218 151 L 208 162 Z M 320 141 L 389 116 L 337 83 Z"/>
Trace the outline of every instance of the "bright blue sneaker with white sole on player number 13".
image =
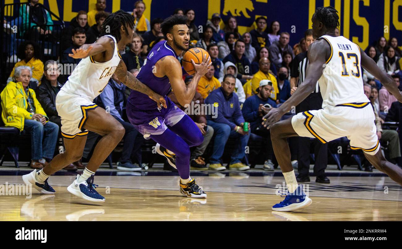
<path id="1" fill-rule="evenodd" d="M 299 187 L 297 187 L 297 189 L 293 193 L 287 195 L 281 195 L 281 197 L 285 197 L 285 200 L 281 201 L 278 204 L 275 204 L 272 207 L 272 210 L 289 212 L 300 208 L 308 207 L 312 203 L 312 200 L 308 198 L 306 193 L 303 192 L 302 185 L 299 185 Z"/>

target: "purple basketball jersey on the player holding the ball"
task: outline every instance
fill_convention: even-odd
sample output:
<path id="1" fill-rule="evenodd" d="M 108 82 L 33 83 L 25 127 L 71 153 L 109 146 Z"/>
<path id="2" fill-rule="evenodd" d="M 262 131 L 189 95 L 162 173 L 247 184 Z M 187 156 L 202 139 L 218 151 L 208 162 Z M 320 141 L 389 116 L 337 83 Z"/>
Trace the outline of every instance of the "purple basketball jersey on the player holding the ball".
<path id="1" fill-rule="evenodd" d="M 170 82 L 165 75 L 162 78 L 156 77 L 152 72 L 156 62 L 165 56 L 174 56 L 178 58 L 176 52 L 166 43 L 160 41 L 154 45 L 144 61 L 144 65 L 140 68 L 137 74 L 137 79 L 146 84 L 155 93 L 167 98 L 166 95 L 170 91 Z M 128 99 L 129 104 L 138 110 L 151 110 L 156 109 L 155 101 L 150 99 L 144 93 L 132 91 Z"/>

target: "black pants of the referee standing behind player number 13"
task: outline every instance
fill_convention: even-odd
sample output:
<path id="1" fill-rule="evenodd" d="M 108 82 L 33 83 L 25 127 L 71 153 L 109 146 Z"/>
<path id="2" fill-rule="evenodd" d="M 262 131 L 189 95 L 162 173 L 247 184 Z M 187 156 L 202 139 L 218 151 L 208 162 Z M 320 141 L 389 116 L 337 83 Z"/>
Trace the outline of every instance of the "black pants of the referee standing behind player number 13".
<path id="1" fill-rule="evenodd" d="M 318 110 L 322 108 L 322 97 L 320 93 L 310 94 L 304 101 L 297 107 L 296 112 Z M 310 169 L 310 138 L 298 137 L 298 152 L 297 161 L 299 177 L 306 177 L 309 175 Z M 324 176 L 325 169 L 328 164 L 328 144 L 322 144 L 318 139 L 314 138 L 314 175 Z"/>

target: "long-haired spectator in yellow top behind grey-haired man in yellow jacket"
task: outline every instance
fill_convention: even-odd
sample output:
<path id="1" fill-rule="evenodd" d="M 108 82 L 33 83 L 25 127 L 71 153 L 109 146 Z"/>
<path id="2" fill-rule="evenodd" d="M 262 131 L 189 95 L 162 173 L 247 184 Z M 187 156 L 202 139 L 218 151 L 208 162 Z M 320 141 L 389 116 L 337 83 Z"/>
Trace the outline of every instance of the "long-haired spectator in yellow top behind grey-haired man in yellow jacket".
<path id="1" fill-rule="evenodd" d="M 19 66 L 29 66 L 32 70 L 30 81 L 35 83 L 36 88 L 36 85 L 41 83 L 43 76 L 43 62 L 41 61 L 42 55 L 39 46 L 33 41 L 23 41 L 18 47 L 17 56 L 21 60 L 14 65 L 14 68 L 12 68 L 7 83 L 13 80 L 15 68 Z"/>

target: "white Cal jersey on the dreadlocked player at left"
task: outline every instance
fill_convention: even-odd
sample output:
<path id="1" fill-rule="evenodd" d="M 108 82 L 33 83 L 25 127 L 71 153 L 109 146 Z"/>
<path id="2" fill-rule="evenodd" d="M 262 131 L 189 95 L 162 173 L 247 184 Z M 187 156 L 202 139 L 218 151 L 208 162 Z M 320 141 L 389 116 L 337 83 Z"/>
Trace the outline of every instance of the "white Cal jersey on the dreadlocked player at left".
<path id="1" fill-rule="evenodd" d="M 111 60 L 99 63 L 95 62 L 92 56 L 82 59 L 62 87 L 64 92 L 86 96 L 90 101 L 93 101 L 94 98 L 102 93 L 121 60 L 115 37 L 106 36 L 115 41 L 115 50 Z"/>

